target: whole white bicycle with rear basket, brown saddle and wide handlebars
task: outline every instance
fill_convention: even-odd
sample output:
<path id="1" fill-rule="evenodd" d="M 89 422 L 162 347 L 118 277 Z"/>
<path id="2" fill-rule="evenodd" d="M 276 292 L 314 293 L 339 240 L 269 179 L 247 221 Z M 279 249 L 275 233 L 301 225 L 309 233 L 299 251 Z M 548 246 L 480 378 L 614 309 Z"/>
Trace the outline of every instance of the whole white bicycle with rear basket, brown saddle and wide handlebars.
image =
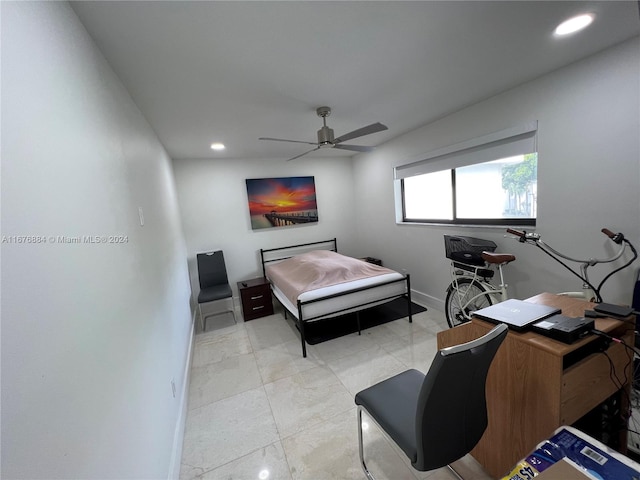
<path id="1" fill-rule="evenodd" d="M 595 303 L 602 303 L 600 290 L 604 283 L 612 275 L 631 265 L 637 258 L 638 252 L 633 244 L 622 233 L 613 233 L 603 228 L 602 233 L 607 235 L 614 243 L 620 245 L 617 252 L 604 259 L 577 259 L 565 255 L 542 241 L 537 233 L 507 229 L 507 233 L 515 235 L 520 243 L 529 243 L 540 248 L 543 252 L 560 263 L 573 275 L 582 281 L 582 290 L 578 292 L 561 292 L 558 295 L 573 298 L 582 298 Z M 447 258 L 451 259 L 452 282 L 447 288 L 445 299 L 445 314 L 447 323 L 454 327 L 471 319 L 473 312 L 480 308 L 499 303 L 508 298 L 507 285 L 504 282 L 502 267 L 515 260 L 511 254 L 495 254 L 496 244 L 489 240 L 474 239 L 472 237 L 453 237 L 445 235 L 445 247 Z M 598 286 L 594 286 L 589 280 L 589 267 L 600 263 L 615 262 L 622 257 L 626 249 L 633 253 L 633 258 L 624 265 L 607 274 Z M 561 260 L 562 259 L 562 260 Z M 580 264 L 580 273 L 576 272 L 563 260 Z M 500 284 L 496 288 L 490 281 L 494 271 L 500 273 Z"/>

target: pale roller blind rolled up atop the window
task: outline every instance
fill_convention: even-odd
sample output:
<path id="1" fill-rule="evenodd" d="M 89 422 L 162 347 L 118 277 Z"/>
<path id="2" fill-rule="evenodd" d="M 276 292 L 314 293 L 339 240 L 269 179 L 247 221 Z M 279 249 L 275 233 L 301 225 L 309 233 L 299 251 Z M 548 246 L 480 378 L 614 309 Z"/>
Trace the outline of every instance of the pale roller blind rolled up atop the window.
<path id="1" fill-rule="evenodd" d="M 428 153 L 417 162 L 394 168 L 400 180 L 537 151 L 538 122 L 509 128 Z"/>

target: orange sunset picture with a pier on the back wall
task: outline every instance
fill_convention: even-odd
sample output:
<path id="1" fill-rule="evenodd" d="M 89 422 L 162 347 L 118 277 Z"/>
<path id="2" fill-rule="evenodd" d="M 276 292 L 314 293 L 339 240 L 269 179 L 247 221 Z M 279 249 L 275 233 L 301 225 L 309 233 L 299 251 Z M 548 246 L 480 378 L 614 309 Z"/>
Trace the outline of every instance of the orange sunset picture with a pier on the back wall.
<path id="1" fill-rule="evenodd" d="M 250 178 L 247 195 L 254 230 L 318 221 L 314 177 Z"/>

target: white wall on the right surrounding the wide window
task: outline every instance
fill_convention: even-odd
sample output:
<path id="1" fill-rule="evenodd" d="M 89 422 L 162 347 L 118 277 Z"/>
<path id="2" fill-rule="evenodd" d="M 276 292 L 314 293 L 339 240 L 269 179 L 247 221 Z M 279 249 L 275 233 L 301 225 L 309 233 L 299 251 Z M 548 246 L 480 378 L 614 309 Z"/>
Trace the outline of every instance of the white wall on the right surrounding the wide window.
<path id="1" fill-rule="evenodd" d="M 487 238 L 514 253 L 518 259 L 507 273 L 516 298 L 579 290 L 579 280 L 534 247 L 504 238 L 504 229 L 396 225 L 393 167 L 538 120 L 536 231 L 577 257 L 611 252 L 602 227 L 622 231 L 640 246 L 639 52 L 636 37 L 357 157 L 354 218 L 362 249 L 409 270 L 423 300 L 440 308 L 449 283 L 443 234 Z M 593 279 L 599 282 L 606 272 L 598 268 Z M 629 304 L 634 279 L 635 269 L 611 279 L 602 292 L 605 301 Z"/>

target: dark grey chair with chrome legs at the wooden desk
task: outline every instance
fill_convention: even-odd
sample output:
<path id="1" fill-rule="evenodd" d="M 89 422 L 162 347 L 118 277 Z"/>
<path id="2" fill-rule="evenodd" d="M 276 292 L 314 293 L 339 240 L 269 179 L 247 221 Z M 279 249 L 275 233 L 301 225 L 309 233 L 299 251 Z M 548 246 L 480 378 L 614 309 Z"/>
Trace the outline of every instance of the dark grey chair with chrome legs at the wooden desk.
<path id="1" fill-rule="evenodd" d="M 360 462 L 364 462 L 362 411 L 421 472 L 451 465 L 469 453 L 487 428 L 487 372 L 507 335 L 500 324 L 486 335 L 438 353 L 426 375 L 407 370 L 356 394 Z"/>

